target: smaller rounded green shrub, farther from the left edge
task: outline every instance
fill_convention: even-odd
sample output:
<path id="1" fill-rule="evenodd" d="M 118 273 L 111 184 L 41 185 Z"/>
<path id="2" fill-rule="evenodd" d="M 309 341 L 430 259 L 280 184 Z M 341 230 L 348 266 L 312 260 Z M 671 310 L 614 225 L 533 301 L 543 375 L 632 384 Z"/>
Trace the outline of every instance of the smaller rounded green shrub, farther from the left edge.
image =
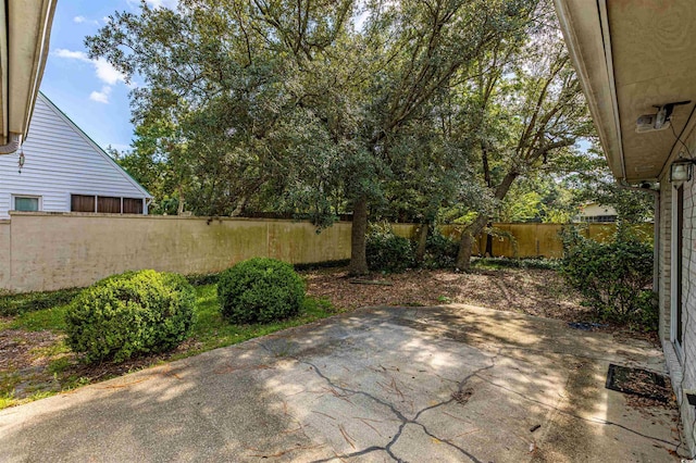
<path id="1" fill-rule="evenodd" d="M 304 281 L 290 264 L 254 258 L 220 275 L 217 298 L 233 323 L 268 323 L 297 315 L 304 300 Z"/>

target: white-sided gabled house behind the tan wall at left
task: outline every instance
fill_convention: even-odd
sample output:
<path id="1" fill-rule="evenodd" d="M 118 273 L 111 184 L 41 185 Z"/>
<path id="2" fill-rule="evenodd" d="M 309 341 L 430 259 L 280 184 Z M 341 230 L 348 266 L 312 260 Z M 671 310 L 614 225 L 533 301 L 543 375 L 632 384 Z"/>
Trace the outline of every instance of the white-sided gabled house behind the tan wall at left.
<path id="1" fill-rule="evenodd" d="M 150 193 L 42 93 L 29 130 L 18 153 L 0 157 L 0 218 L 9 211 L 147 214 Z"/>

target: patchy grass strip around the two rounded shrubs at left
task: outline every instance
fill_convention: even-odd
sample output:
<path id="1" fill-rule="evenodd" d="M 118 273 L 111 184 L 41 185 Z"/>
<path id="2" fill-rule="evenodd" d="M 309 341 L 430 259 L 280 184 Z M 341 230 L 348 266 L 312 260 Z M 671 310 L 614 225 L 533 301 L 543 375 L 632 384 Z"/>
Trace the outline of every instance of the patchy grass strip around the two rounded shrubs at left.
<path id="1" fill-rule="evenodd" d="M 336 313 L 326 299 L 308 296 L 301 313 L 294 318 L 269 324 L 234 325 L 220 314 L 216 285 L 198 286 L 196 292 L 196 323 L 191 335 L 182 346 L 164 354 L 99 365 L 80 362 L 64 340 L 66 300 L 76 293 L 75 290 L 53 293 L 45 303 L 46 308 L 35 311 L 22 311 L 22 308 L 26 310 L 36 300 L 45 300 L 46 297 L 22 295 L 3 298 L 0 305 L 20 314 L 0 317 L 0 410 L 158 363 L 304 325 Z M 51 301 L 57 304 L 51 306 Z"/>

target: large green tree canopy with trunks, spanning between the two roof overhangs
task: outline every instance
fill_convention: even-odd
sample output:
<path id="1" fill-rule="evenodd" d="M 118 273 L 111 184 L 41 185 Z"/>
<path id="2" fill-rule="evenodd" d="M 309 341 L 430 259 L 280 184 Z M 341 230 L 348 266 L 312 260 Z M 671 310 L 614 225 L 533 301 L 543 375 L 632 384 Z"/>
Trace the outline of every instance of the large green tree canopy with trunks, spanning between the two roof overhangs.
<path id="1" fill-rule="evenodd" d="M 592 136 L 549 0 L 141 2 L 86 45 L 137 83 L 120 162 L 157 209 L 352 213 L 355 273 L 369 218 L 444 211 L 469 217 L 465 268 L 471 235 L 524 215 L 508 193 L 534 203 Z"/>

